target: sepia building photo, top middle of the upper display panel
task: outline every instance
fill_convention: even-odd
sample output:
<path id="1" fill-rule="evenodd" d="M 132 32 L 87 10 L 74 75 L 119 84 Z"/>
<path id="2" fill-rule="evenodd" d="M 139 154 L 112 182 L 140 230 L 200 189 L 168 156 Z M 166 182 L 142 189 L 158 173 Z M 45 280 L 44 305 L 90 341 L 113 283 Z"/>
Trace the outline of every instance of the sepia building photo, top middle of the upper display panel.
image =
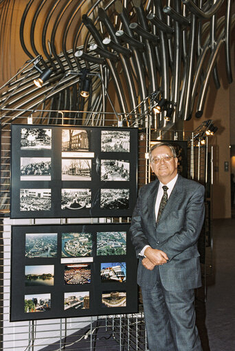
<path id="1" fill-rule="evenodd" d="M 62 151 L 88 151 L 89 139 L 85 129 L 62 129 Z"/>

